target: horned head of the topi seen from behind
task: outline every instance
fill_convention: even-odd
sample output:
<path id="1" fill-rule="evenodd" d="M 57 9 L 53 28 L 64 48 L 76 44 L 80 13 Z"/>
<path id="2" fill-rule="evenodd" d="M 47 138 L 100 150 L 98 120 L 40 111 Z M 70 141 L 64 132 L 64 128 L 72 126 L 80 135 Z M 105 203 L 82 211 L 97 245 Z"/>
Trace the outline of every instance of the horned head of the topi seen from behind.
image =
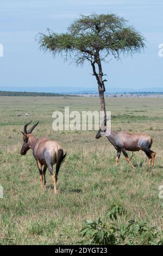
<path id="1" fill-rule="evenodd" d="M 21 131 L 22 135 L 23 135 L 23 145 L 22 145 L 22 149 L 20 154 L 21 155 L 26 155 L 27 151 L 30 149 L 30 137 L 32 136 L 32 131 L 34 130 L 34 128 L 37 126 L 37 124 L 39 124 L 39 121 L 37 121 L 36 124 L 34 124 L 29 131 L 27 131 L 27 126 L 32 123 L 32 121 L 30 121 L 29 123 L 27 123 L 26 125 L 24 125 L 24 129 L 23 132 Z"/>

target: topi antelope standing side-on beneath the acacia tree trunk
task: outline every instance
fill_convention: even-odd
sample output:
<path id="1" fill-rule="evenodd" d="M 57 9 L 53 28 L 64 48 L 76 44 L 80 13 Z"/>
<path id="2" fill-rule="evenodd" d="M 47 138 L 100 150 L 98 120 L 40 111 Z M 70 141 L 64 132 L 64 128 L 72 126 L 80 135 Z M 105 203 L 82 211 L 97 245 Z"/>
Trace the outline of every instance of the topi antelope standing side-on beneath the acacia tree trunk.
<path id="1" fill-rule="evenodd" d="M 125 131 L 120 132 L 113 132 L 110 131 L 106 124 L 106 121 L 108 119 L 105 119 L 103 121 L 103 124 L 101 126 L 101 129 L 97 132 L 96 139 L 99 139 L 102 136 L 105 136 L 109 139 L 110 143 L 115 147 L 117 150 L 117 156 L 116 156 L 116 166 L 118 164 L 118 161 L 120 159 L 121 152 L 125 156 L 126 160 L 130 164 L 131 167 L 135 168 L 131 161 L 129 160 L 128 154 L 126 150 L 128 151 L 139 151 L 142 150 L 146 153 L 148 159 L 149 159 L 149 166 L 152 163 L 152 167 L 154 167 L 154 159 L 156 153 L 152 151 L 151 145 L 152 145 L 152 138 L 148 135 L 145 135 L 143 133 L 127 133 Z"/>

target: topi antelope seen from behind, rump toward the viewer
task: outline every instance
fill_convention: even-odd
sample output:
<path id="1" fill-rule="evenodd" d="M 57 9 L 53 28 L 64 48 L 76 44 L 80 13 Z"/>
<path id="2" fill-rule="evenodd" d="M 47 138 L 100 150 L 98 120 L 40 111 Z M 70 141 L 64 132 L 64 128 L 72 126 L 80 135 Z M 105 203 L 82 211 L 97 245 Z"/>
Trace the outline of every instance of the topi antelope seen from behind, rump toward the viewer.
<path id="1" fill-rule="evenodd" d="M 54 185 L 54 193 L 57 193 L 57 187 L 56 183 L 58 180 L 58 173 L 60 169 L 61 163 L 64 161 L 66 154 L 64 154 L 64 150 L 60 147 L 59 143 L 57 141 L 50 141 L 49 139 L 46 139 L 45 137 L 41 137 L 37 139 L 33 134 L 32 131 L 34 128 L 39 124 L 39 121 L 37 121 L 36 124 L 34 124 L 29 131 L 27 131 L 27 126 L 31 123 L 27 123 L 24 125 L 24 130 L 21 133 L 23 134 L 23 146 L 21 149 L 21 155 L 26 155 L 27 151 L 29 149 L 33 150 L 33 156 L 37 162 L 37 167 L 39 168 L 40 173 L 40 184 L 42 186 L 42 181 L 44 180 L 44 185 L 47 185 L 46 183 L 46 170 L 48 168 L 49 173 L 52 175 L 52 181 Z M 53 165 L 56 163 L 56 171 L 55 175 L 53 172 Z M 43 172 L 42 172 L 42 166 Z M 43 176 L 42 176 L 43 174 Z"/>

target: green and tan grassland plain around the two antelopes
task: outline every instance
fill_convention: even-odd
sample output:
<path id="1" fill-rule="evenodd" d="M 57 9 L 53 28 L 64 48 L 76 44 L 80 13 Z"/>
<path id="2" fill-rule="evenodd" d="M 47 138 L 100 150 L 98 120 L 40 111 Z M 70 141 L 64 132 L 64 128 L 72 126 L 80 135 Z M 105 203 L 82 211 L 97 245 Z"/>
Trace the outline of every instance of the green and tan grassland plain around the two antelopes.
<path id="1" fill-rule="evenodd" d="M 0 97 L 0 244 L 67 245 L 81 240 L 85 219 L 104 217 L 111 203 L 123 205 L 127 219 L 145 220 L 163 230 L 163 99 L 108 98 L 112 130 L 144 132 L 153 137 L 155 168 L 148 170 L 144 153 L 134 153 L 130 168 L 123 156 L 114 166 L 116 151 L 106 138 L 95 139 L 96 131 L 53 131 L 52 113 L 64 110 L 99 110 L 99 100 L 87 97 Z M 16 117 L 16 113 L 23 116 Z M 26 118 L 25 113 L 30 117 Z M 60 142 L 68 156 L 54 196 L 40 188 L 39 172 L 32 151 L 20 155 L 20 130 L 27 120 L 40 120 L 34 134 Z M 129 153 L 131 157 L 131 153 Z"/>

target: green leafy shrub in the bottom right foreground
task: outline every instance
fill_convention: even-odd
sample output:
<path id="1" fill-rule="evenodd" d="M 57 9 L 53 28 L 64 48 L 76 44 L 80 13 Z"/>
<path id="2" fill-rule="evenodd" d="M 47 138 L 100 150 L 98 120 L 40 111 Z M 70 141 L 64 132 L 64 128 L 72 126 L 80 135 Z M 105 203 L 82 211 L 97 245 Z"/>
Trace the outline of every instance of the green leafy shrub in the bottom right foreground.
<path id="1" fill-rule="evenodd" d="M 163 233 L 150 227 L 145 221 L 129 220 L 127 225 L 118 225 L 117 217 L 124 216 L 126 211 L 118 205 L 111 205 L 106 211 L 109 222 L 86 220 L 80 231 L 84 237 L 83 244 L 89 245 L 162 245 Z"/>

